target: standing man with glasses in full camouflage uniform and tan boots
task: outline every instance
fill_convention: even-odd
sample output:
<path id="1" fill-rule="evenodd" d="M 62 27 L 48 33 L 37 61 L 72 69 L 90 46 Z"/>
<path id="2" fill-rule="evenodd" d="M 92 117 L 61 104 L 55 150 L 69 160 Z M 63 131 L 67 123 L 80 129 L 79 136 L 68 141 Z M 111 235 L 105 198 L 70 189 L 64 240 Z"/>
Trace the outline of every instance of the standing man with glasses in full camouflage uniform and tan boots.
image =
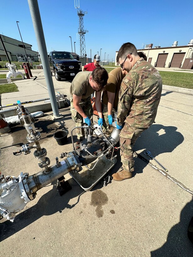
<path id="1" fill-rule="evenodd" d="M 132 177 L 134 171 L 133 146 L 140 134 L 155 120 L 162 92 L 159 72 L 137 54 L 131 43 L 121 46 L 117 61 L 129 73 L 121 83 L 119 92 L 117 128 L 121 129 L 120 149 L 123 170 L 113 174 L 122 181 Z"/>

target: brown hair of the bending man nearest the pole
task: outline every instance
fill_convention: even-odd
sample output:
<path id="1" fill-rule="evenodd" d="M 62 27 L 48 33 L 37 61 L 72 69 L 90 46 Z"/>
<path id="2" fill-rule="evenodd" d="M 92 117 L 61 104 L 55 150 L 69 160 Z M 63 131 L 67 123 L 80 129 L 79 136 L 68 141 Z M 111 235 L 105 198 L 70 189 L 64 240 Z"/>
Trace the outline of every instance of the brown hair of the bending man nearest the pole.
<path id="1" fill-rule="evenodd" d="M 108 72 L 103 67 L 97 67 L 92 72 L 92 80 L 99 86 L 98 91 L 102 91 L 107 84 L 109 78 Z"/>

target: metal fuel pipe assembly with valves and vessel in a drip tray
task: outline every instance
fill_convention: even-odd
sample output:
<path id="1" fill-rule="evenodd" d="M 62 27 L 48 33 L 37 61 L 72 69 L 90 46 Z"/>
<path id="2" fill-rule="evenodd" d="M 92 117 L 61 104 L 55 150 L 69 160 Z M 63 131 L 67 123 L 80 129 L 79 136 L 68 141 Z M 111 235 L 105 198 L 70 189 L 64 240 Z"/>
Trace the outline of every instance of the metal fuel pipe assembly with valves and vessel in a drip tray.
<path id="1" fill-rule="evenodd" d="M 82 126 L 85 139 L 74 144 L 72 137 L 73 150 L 60 155 L 60 158 L 66 157 L 64 160 L 59 161 L 56 157 L 56 164 L 50 166 L 50 159 L 46 157 L 47 151 L 40 146 L 40 132 L 35 129 L 30 113 L 20 103 L 18 106 L 21 111 L 20 121 L 27 130 L 26 139 L 32 145 L 25 144 L 14 154 L 24 152 L 28 155 L 35 149 L 34 156 L 39 160 L 38 165 L 42 170 L 30 176 L 27 172 L 18 177 L 0 175 L 0 219 L 6 218 L 12 222 L 15 214 L 35 199 L 38 190 L 56 179 L 60 180 L 67 173 L 85 191 L 91 190 L 115 165 L 114 146 L 121 132 L 114 128 L 111 136 L 107 138 L 98 125 Z"/>

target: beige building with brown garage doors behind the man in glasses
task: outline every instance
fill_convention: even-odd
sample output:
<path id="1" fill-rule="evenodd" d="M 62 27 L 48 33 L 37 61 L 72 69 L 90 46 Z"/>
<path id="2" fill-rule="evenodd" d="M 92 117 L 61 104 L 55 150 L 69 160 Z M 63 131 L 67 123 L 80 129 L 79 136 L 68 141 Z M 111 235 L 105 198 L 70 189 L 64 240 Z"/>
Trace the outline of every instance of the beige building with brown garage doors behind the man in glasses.
<path id="1" fill-rule="evenodd" d="M 193 39 L 188 45 L 183 46 L 178 46 L 178 41 L 174 41 L 171 47 L 153 48 L 153 44 L 149 44 L 144 49 L 137 49 L 137 52 L 140 51 L 147 56 L 147 61 L 154 67 L 193 69 Z M 117 53 L 118 51 L 115 60 Z"/>

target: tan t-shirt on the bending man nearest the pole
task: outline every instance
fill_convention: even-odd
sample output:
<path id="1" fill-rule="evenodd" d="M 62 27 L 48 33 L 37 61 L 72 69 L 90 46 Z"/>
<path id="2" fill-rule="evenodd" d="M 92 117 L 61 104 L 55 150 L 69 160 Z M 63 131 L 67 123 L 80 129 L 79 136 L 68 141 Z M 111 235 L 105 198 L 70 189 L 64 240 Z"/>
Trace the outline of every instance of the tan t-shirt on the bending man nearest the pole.
<path id="1" fill-rule="evenodd" d="M 94 93 L 94 89 L 89 83 L 89 78 L 92 72 L 90 71 L 80 71 L 72 80 L 70 87 L 70 95 L 73 97 L 73 94 L 76 96 L 82 96 L 82 100 L 91 97 Z"/>

